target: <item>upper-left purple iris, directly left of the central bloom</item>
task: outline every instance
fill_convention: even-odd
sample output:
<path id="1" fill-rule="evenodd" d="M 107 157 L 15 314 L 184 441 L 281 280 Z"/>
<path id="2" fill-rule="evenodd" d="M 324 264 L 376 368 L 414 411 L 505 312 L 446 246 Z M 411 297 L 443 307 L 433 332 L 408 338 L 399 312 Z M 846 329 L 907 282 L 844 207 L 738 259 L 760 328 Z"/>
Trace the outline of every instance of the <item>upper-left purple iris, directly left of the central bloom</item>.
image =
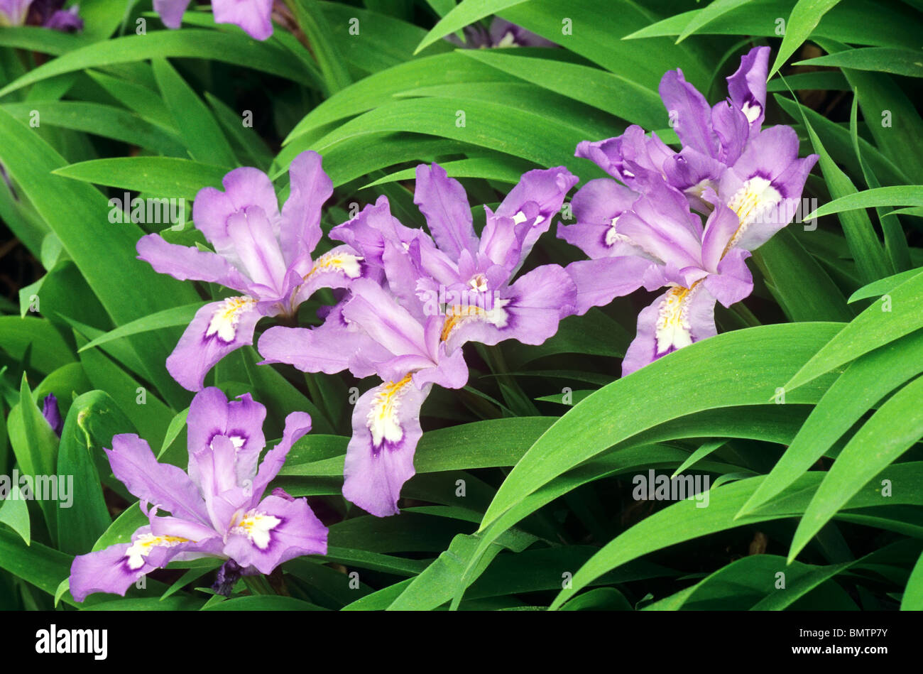
<path id="1" fill-rule="evenodd" d="M 224 192 L 199 190 L 193 219 L 214 253 L 169 244 L 156 234 L 138 241 L 138 259 L 156 271 L 243 293 L 201 307 L 167 358 L 170 374 L 189 391 L 200 390 L 225 355 L 253 343 L 260 318 L 294 316 L 318 288 L 347 287 L 363 273 L 362 259 L 346 246 L 311 258 L 321 237 L 321 207 L 333 191 L 320 155 L 302 152 L 289 175 L 292 191 L 282 213 L 269 177 L 255 168 L 225 175 Z"/>

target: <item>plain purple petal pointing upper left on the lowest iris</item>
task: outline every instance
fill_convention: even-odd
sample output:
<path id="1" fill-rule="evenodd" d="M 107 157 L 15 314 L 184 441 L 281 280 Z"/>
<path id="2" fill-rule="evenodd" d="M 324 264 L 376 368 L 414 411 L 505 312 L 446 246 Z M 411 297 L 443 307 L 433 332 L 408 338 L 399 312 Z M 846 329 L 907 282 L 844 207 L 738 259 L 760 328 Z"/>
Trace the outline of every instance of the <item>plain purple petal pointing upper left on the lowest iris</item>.
<path id="1" fill-rule="evenodd" d="M 132 494 L 177 517 L 207 523 L 205 503 L 189 476 L 174 465 L 158 463 L 147 440 L 134 433 L 113 437 L 113 449 L 104 450 L 113 475 Z"/>

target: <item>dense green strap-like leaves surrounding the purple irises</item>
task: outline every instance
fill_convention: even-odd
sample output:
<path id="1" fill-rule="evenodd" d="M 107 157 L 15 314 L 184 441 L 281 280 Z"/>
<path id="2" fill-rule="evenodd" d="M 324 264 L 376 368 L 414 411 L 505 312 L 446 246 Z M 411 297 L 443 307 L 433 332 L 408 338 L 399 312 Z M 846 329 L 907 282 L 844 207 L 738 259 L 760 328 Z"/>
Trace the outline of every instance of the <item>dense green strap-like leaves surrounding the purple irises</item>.
<path id="1" fill-rule="evenodd" d="M 443 39 L 495 14 L 560 46 Z M 426 402 L 417 475 L 381 519 L 340 495 L 369 382 L 237 351 L 210 382 L 266 404 L 268 439 L 290 412 L 314 419 L 277 484 L 330 525 L 329 554 L 231 598 L 207 589 L 217 560 L 174 562 L 80 606 L 923 608 L 919 0 L 293 0 L 266 42 L 207 6 L 180 30 L 144 1 L 84 0 L 80 15 L 78 34 L 0 29 L 0 475 L 75 475 L 76 492 L 69 509 L 0 504 L 0 607 L 78 606 L 63 583 L 74 555 L 143 524 L 102 452 L 115 433 L 185 466 L 191 394 L 163 362 L 219 288 L 136 259 L 162 225 L 113 223 L 108 199 L 190 210 L 240 165 L 284 196 L 311 149 L 335 187 L 325 231 L 379 195 L 423 226 L 417 163 L 491 206 L 532 168 L 566 165 L 582 184 L 603 174 L 573 156 L 581 140 L 638 124 L 677 141 L 666 70 L 717 102 L 740 54 L 768 44 L 766 125 L 821 155 L 802 216 L 820 211 L 756 251 L 756 290 L 719 307 L 721 334 L 619 379 L 641 292 L 541 346 L 469 344 L 469 385 Z M 205 244 L 189 225 L 163 235 Z M 581 258 L 549 234 L 531 264 Z M 302 324 L 331 301 L 307 302 Z M 40 411 L 50 392 L 60 440 Z M 709 476 L 707 507 L 634 498 L 649 470 Z"/>

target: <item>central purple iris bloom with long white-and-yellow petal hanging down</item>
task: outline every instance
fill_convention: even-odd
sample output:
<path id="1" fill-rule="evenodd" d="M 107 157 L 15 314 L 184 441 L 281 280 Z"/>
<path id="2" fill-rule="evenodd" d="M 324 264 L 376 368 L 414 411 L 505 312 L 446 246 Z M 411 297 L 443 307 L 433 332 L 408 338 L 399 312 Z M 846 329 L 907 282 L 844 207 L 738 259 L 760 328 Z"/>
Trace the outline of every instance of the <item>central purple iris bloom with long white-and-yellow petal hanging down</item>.
<path id="1" fill-rule="evenodd" d="M 354 282 L 319 328 L 271 328 L 259 340 L 265 362 L 383 380 L 355 405 L 343 484 L 347 499 L 378 516 L 398 512 L 414 475 L 420 407 L 432 384 L 467 381 L 462 344 L 542 343 L 576 306 L 577 289 L 558 265 L 512 282 L 575 176 L 562 167 L 523 175 L 497 212 L 487 211 L 480 237 L 458 181 L 437 164 L 418 166 L 416 177 L 414 201 L 432 237 L 402 225 L 378 199 L 330 232 L 380 271 L 378 283 Z"/>

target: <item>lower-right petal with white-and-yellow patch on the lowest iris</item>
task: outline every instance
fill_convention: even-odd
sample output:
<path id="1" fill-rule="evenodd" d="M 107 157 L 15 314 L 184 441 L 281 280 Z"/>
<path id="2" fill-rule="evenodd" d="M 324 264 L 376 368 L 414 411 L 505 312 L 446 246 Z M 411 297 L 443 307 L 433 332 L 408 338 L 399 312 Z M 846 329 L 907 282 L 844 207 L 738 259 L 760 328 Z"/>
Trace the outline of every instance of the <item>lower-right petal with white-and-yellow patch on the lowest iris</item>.
<path id="1" fill-rule="evenodd" d="M 235 515 L 228 534 L 224 554 L 261 573 L 271 573 L 295 557 L 327 554 L 327 527 L 307 499 L 268 496 L 255 508 Z"/>

